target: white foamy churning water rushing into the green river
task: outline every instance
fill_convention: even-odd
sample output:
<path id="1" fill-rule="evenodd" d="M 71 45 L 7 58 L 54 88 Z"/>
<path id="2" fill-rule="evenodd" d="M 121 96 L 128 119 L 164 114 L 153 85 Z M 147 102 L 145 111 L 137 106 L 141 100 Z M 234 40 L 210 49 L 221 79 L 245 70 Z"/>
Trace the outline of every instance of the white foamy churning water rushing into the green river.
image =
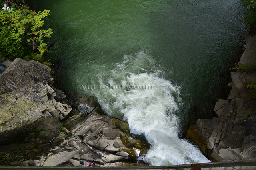
<path id="1" fill-rule="evenodd" d="M 151 147 L 140 158 L 152 166 L 210 162 L 196 146 L 178 137 L 180 87 L 161 77 L 144 52 L 125 55 L 93 93 L 108 115 L 124 118 L 133 134 L 144 134 Z"/>

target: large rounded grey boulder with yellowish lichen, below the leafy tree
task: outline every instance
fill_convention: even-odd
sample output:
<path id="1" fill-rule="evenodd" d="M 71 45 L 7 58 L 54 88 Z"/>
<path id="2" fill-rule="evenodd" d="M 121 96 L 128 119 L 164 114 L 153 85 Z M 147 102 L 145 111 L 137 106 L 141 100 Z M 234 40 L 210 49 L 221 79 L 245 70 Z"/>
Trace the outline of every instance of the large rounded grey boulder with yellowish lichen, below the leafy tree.
<path id="1" fill-rule="evenodd" d="M 15 59 L 0 80 L 0 144 L 20 141 L 50 115 L 58 122 L 72 110 L 50 84 L 50 69 L 36 61 Z"/>

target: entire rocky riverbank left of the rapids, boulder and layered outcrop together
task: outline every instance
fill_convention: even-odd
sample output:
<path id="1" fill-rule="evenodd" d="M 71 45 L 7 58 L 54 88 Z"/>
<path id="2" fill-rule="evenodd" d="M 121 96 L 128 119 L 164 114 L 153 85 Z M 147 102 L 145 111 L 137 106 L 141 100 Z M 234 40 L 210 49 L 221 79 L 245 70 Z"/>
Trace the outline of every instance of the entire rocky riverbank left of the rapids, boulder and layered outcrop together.
<path id="1" fill-rule="evenodd" d="M 90 97 L 72 108 L 52 84 L 36 61 L 15 59 L 0 74 L 1 166 L 138 166 L 149 145 L 131 137 L 128 123 L 103 115 Z"/>

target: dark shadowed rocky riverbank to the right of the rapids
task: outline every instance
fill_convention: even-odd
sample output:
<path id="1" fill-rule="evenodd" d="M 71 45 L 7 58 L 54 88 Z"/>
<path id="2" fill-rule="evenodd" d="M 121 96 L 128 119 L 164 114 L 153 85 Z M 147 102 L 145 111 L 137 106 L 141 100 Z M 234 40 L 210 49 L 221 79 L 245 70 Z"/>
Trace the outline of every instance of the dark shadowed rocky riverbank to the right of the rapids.
<path id="1" fill-rule="evenodd" d="M 256 65 L 256 35 L 248 35 L 240 62 L 245 67 Z M 212 161 L 256 159 L 256 99 L 249 84 L 256 84 L 256 72 L 231 72 L 232 82 L 227 99 L 218 99 L 214 111 L 218 117 L 199 119 L 187 131 L 187 139 L 195 143 Z"/>

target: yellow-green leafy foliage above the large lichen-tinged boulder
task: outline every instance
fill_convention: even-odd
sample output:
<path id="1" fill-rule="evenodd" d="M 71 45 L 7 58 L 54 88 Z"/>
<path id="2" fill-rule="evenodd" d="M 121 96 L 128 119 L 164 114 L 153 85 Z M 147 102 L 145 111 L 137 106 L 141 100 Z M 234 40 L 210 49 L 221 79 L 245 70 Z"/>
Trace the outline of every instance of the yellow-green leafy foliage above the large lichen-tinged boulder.
<path id="1" fill-rule="evenodd" d="M 43 29 L 50 10 L 35 12 L 26 5 L 13 4 L 13 12 L 0 11 L 0 57 L 17 57 L 45 62 L 43 55 L 52 29 Z"/>

